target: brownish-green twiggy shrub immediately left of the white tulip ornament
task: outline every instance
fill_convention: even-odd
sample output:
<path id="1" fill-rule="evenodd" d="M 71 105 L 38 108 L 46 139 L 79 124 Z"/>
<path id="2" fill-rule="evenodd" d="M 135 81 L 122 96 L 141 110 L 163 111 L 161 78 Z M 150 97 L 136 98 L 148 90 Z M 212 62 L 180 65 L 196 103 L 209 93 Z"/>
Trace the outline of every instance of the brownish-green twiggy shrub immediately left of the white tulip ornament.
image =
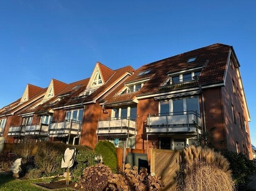
<path id="1" fill-rule="evenodd" d="M 47 175 L 62 172 L 61 158 L 66 147 L 66 144 L 59 142 L 39 142 L 35 155 L 36 167 Z"/>

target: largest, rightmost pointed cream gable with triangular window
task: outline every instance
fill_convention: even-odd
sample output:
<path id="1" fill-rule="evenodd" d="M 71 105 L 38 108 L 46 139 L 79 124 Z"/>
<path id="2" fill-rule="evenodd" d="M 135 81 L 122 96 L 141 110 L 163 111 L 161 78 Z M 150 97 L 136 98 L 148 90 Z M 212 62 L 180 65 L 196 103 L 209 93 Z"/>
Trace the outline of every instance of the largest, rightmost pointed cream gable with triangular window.
<path id="1" fill-rule="evenodd" d="M 105 84 L 107 79 L 104 79 L 102 72 L 109 72 L 109 69 L 107 67 L 103 67 L 104 65 L 97 62 L 96 66 L 91 74 L 90 81 L 86 87 L 86 89 L 92 89 L 97 88 L 103 84 Z M 101 70 L 103 69 L 103 71 Z M 112 70 L 113 71 L 113 70 Z M 109 76 L 109 74 L 107 74 Z M 107 77 L 105 76 L 105 77 Z"/>

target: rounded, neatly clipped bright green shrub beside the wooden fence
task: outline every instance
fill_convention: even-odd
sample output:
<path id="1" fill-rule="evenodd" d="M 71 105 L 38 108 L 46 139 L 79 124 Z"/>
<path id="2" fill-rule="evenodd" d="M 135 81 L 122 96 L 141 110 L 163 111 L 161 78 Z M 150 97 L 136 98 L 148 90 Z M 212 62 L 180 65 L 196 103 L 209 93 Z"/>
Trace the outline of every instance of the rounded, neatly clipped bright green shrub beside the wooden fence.
<path id="1" fill-rule="evenodd" d="M 99 141 L 94 151 L 101 154 L 104 164 L 107 165 L 113 172 L 116 172 L 117 158 L 116 147 L 109 141 Z"/>

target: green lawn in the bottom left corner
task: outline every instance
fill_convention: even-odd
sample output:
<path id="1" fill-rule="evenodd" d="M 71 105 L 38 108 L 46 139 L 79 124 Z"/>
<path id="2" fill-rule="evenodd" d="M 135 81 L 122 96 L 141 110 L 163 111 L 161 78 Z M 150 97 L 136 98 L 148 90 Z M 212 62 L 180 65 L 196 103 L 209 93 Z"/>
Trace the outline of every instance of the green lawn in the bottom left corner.
<path id="1" fill-rule="evenodd" d="M 44 181 L 46 180 L 17 180 L 11 175 L 0 175 L 0 191 L 41 191 L 41 188 L 33 186 L 31 183 Z M 62 189 L 60 191 L 71 191 L 71 189 Z"/>

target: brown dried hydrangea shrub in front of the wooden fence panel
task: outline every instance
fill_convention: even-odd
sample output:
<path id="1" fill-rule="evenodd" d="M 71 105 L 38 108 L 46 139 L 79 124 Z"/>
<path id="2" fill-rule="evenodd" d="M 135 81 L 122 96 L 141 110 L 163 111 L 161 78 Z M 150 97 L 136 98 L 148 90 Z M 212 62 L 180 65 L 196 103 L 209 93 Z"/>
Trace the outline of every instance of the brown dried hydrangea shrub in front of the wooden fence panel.
<path id="1" fill-rule="evenodd" d="M 124 174 L 114 174 L 108 179 L 107 190 L 111 191 L 161 191 L 164 187 L 163 181 L 159 177 L 149 175 L 147 168 L 133 167 L 125 165 Z"/>

